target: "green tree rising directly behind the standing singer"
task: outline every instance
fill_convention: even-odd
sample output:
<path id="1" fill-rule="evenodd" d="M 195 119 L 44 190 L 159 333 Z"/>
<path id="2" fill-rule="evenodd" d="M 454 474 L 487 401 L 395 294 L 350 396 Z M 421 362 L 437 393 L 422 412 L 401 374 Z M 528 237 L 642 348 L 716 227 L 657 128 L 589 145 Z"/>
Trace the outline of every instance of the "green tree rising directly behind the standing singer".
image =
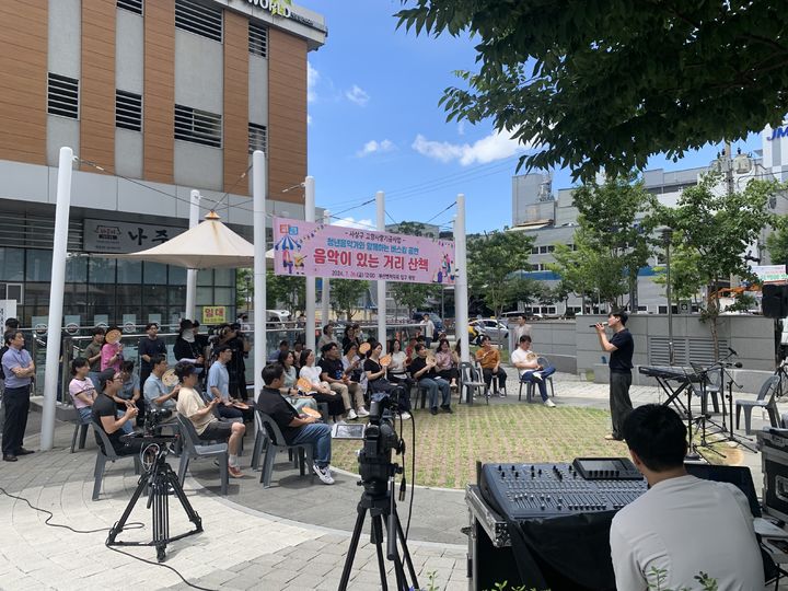
<path id="1" fill-rule="evenodd" d="M 636 293 L 638 271 L 651 254 L 648 236 L 656 222 L 649 212 L 656 200 L 633 172 L 601 185 L 586 183 L 572 199 L 578 208 L 573 250 L 557 244 L 556 263 L 548 267 L 578 296 L 621 308 L 626 293 Z"/>

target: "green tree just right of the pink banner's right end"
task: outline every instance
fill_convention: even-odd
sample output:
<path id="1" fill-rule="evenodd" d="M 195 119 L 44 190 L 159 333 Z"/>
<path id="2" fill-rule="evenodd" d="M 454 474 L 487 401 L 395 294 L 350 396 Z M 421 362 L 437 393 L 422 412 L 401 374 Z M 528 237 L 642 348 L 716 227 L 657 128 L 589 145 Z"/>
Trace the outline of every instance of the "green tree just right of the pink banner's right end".
<path id="1" fill-rule="evenodd" d="M 468 286 L 496 317 L 511 299 L 509 282 L 517 279 L 513 274 L 529 268 L 532 244 L 533 237 L 522 232 L 494 231 L 468 236 Z"/>

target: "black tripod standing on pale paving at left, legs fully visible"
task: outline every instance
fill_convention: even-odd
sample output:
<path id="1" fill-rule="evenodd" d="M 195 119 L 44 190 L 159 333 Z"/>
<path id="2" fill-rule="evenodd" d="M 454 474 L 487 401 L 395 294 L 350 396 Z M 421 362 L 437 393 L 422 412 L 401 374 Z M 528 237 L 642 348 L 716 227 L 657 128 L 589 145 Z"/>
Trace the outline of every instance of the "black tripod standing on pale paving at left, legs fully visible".
<path id="1" fill-rule="evenodd" d="M 155 457 L 151 462 L 148 471 L 140 476 L 139 483 L 137 483 L 137 489 L 131 495 L 126 509 L 124 510 L 120 519 L 109 530 L 109 535 L 106 540 L 107 546 L 155 546 L 157 548 L 157 560 L 160 563 L 164 561 L 166 545 L 182 537 L 193 535 L 202 531 L 202 519 L 192 508 L 186 498 L 186 494 L 181 486 L 177 474 L 173 472 L 170 464 L 164 461 L 166 451 L 162 450 L 162 447 L 175 438 L 172 437 L 160 437 L 160 438 L 144 438 L 146 441 L 151 441 L 148 448 L 142 453 L 155 453 Z M 155 450 L 153 450 L 155 448 Z M 139 500 L 142 493 L 148 489 L 148 509 L 152 510 L 153 514 L 153 540 L 151 542 L 119 542 L 117 535 L 124 531 L 126 522 L 128 521 L 131 511 L 134 511 L 137 501 Z M 167 497 L 175 495 L 181 501 L 181 506 L 189 521 L 194 523 L 195 529 L 190 532 L 183 533 L 170 537 L 170 507 L 167 505 Z"/>

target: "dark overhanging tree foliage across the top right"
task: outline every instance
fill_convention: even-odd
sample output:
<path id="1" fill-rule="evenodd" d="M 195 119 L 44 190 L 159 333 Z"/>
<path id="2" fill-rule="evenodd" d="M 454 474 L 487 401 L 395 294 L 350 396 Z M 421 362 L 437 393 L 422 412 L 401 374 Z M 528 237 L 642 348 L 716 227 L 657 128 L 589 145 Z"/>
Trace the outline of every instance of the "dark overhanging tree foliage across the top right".
<path id="1" fill-rule="evenodd" d="M 768 0 L 401 0 L 398 26 L 472 35 L 449 118 L 491 118 L 529 170 L 591 179 L 744 138 L 788 111 L 788 11 Z"/>

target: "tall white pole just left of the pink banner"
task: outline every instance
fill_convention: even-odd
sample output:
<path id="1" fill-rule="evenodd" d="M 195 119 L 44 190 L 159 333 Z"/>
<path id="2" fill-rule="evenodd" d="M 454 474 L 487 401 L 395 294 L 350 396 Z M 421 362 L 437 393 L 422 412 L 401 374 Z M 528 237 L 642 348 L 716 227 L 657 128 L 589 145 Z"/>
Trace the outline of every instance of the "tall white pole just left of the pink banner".
<path id="1" fill-rule="evenodd" d="M 262 371 L 266 362 L 266 239 L 265 239 L 265 202 L 266 202 L 266 175 L 265 175 L 265 152 L 255 150 L 252 154 L 252 197 L 253 197 L 253 222 L 254 222 L 254 376 L 255 391 L 253 398 L 263 390 Z"/>

